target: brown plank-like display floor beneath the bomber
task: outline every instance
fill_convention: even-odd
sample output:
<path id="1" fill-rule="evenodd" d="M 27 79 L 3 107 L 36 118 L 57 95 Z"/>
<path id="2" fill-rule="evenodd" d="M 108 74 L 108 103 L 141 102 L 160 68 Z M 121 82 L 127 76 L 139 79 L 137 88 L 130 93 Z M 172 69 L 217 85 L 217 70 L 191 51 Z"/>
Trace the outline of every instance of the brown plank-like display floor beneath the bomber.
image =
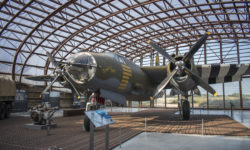
<path id="1" fill-rule="evenodd" d="M 109 148 L 119 147 L 120 144 L 145 131 L 247 139 L 250 137 L 249 128 L 226 115 L 197 114 L 191 115 L 189 121 L 183 121 L 180 115 L 175 114 L 177 109 L 137 110 L 137 112 L 109 112 L 115 120 L 115 123 L 110 125 Z M 29 123 L 30 118 L 12 116 L 1 121 L 0 147 L 1 149 L 48 149 L 56 146 L 64 150 L 87 150 L 90 134 L 83 131 L 83 117 L 83 115 L 56 117 L 57 128 L 51 129 L 48 136 L 44 130 L 25 129 L 23 125 Z M 105 149 L 105 127 L 96 128 L 94 134 L 94 149 Z"/>

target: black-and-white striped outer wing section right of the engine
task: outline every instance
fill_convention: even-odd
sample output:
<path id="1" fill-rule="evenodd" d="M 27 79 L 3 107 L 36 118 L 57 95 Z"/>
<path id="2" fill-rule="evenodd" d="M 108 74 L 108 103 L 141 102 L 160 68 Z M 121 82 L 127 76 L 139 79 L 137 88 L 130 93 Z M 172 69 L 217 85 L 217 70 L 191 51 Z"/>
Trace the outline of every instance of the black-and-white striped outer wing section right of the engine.
<path id="1" fill-rule="evenodd" d="M 196 65 L 198 75 L 208 84 L 239 81 L 250 74 L 250 64 Z"/>

